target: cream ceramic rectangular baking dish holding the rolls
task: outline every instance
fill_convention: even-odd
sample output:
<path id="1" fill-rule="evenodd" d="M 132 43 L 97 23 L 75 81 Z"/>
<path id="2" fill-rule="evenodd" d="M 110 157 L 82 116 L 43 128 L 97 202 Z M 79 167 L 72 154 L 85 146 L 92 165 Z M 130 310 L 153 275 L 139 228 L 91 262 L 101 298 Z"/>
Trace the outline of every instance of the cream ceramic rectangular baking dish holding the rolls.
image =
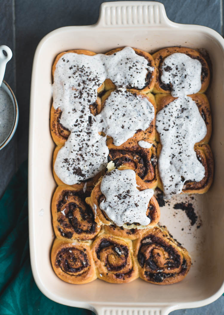
<path id="1" fill-rule="evenodd" d="M 54 143 L 49 130 L 52 103 L 51 67 L 55 56 L 68 49 L 103 53 L 131 46 L 153 52 L 168 46 L 204 48 L 210 55 L 212 79 L 208 96 L 213 118 L 210 141 L 215 178 L 209 192 L 194 196 L 202 226 L 189 227 L 183 211 L 161 208 L 161 223 L 188 249 L 193 265 L 178 284 L 158 286 L 137 279 L 109 284 L 99 279 L 72 285 L 61 281 L 50 263 L 54 238 L 50 203 L 56 184 L 52 175 Z M 29 233 L 34 279 L 50 299 L 99 314 L 168 314 L 180 308 L 211 303 L 224 292 L 224 40 L 204 26 L 171 22 L 158 2 L 108 2 L 96 25 L 69 26 L 52 31 L 39 43 L 33 62 L 29 131 Z M 185 198 L 185 199 L 184 199 Z M 178 196 L 176 200 L 186 200 Z M 175 217 L 174 217 L 175 216 Z M 182 230 L 184 229 L 184 230 Z"/>

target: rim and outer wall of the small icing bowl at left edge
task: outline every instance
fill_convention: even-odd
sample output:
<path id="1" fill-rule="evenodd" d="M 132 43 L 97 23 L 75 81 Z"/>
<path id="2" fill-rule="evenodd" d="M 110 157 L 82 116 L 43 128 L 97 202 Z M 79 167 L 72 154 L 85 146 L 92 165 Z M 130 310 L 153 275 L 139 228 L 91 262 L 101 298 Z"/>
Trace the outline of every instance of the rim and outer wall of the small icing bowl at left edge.
<path id="1" fill-rule="evenodd" d="M 12 104 L 14 107 L 14 113 L 12 113 L 12 115 L 14 114 L 14 123 L 13 123 L 12 129 L 11 129 L 9 135 L 7 136 L 7 138 L 5 140 L 3 140 L 2 143 L 0 143 L 0 150 L 3 149 L 3 147 L 6 146 L 9 143 L 9 141 L 12 139 L 12 137 L 16 131 L 16 128 L 18 125 L 18 119 L 19 119 L 19 109 L 18 109 L 17 100 L 16 100 L 15 95 L 14 95 L 12 89 L 10 88 L 9 84 L 6 83 L 4 80 L 3 80 L 3 83 L 1 85 L 1 89 L 3 89 L 12 100 Z"/>

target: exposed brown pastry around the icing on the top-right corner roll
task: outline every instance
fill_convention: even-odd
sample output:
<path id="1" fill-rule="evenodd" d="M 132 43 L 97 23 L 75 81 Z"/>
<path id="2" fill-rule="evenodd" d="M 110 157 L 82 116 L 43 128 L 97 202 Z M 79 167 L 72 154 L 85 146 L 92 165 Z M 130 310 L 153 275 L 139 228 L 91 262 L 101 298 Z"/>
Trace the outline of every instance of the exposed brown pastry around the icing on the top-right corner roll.
<path id="1" fill-rule="evenodd" d="M 191 57 L 192 59 L 197 59 L 201 63 L 201 89 L 198 92 L 205 92 L 208 88 L 209 81 L 210 81 L 210 70 L 209 66 L 204 59 L 204 57 L 196 50 L 186 47 L 168 47 L 163 48 L 157 51 L 155 54 L 152 55 L 155 66 L 156 66 L 156 81 L 153 88 L 153 93 L 165 93 L 169 94 L 171 92 L 170 84 L 165 84 L 161 81 L 161 66 L 163 61 L 166 57 L 174 53 L 181 53 L 186 54 L 187 56 Z"/>

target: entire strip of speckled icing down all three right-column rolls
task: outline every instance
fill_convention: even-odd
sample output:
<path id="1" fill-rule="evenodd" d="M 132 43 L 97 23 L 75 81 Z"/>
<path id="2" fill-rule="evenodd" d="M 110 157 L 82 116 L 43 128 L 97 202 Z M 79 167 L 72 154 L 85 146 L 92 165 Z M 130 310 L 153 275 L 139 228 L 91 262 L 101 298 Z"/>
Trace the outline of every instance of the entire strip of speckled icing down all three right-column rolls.
<path id="1" fill-rule="evenodd" d="M 201 68 L 200 61 L 181 53 L 169 55 L 161 66 L 161 81 L 178 97 L 156 116 L 162 144 L 158 168 L 167 195 L 181 193 L 185 181 L 198 182 L 205 174 L 194 144 L 205 137 L 207 128 L 197 104 L 187 96 L 201 89 Z"/>

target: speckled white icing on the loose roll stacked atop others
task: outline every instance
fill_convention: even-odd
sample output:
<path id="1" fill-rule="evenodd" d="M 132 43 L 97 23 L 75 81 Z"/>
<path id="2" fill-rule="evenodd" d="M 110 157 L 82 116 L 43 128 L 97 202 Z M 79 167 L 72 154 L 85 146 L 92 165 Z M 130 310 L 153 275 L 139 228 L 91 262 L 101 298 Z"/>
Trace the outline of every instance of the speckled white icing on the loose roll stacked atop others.
<path id="1" fill-rule="evenodd" d="M 106 200 L 100 203 L 100 209 L 117 226 L 125 223 L 146 226 L 150 223 L 146 211 L 153 190 L 139 191 L 136 186 L 135 171 L 131 169 L 113 169 L 107 172 L 101 181 L 101 192 Z"/>

